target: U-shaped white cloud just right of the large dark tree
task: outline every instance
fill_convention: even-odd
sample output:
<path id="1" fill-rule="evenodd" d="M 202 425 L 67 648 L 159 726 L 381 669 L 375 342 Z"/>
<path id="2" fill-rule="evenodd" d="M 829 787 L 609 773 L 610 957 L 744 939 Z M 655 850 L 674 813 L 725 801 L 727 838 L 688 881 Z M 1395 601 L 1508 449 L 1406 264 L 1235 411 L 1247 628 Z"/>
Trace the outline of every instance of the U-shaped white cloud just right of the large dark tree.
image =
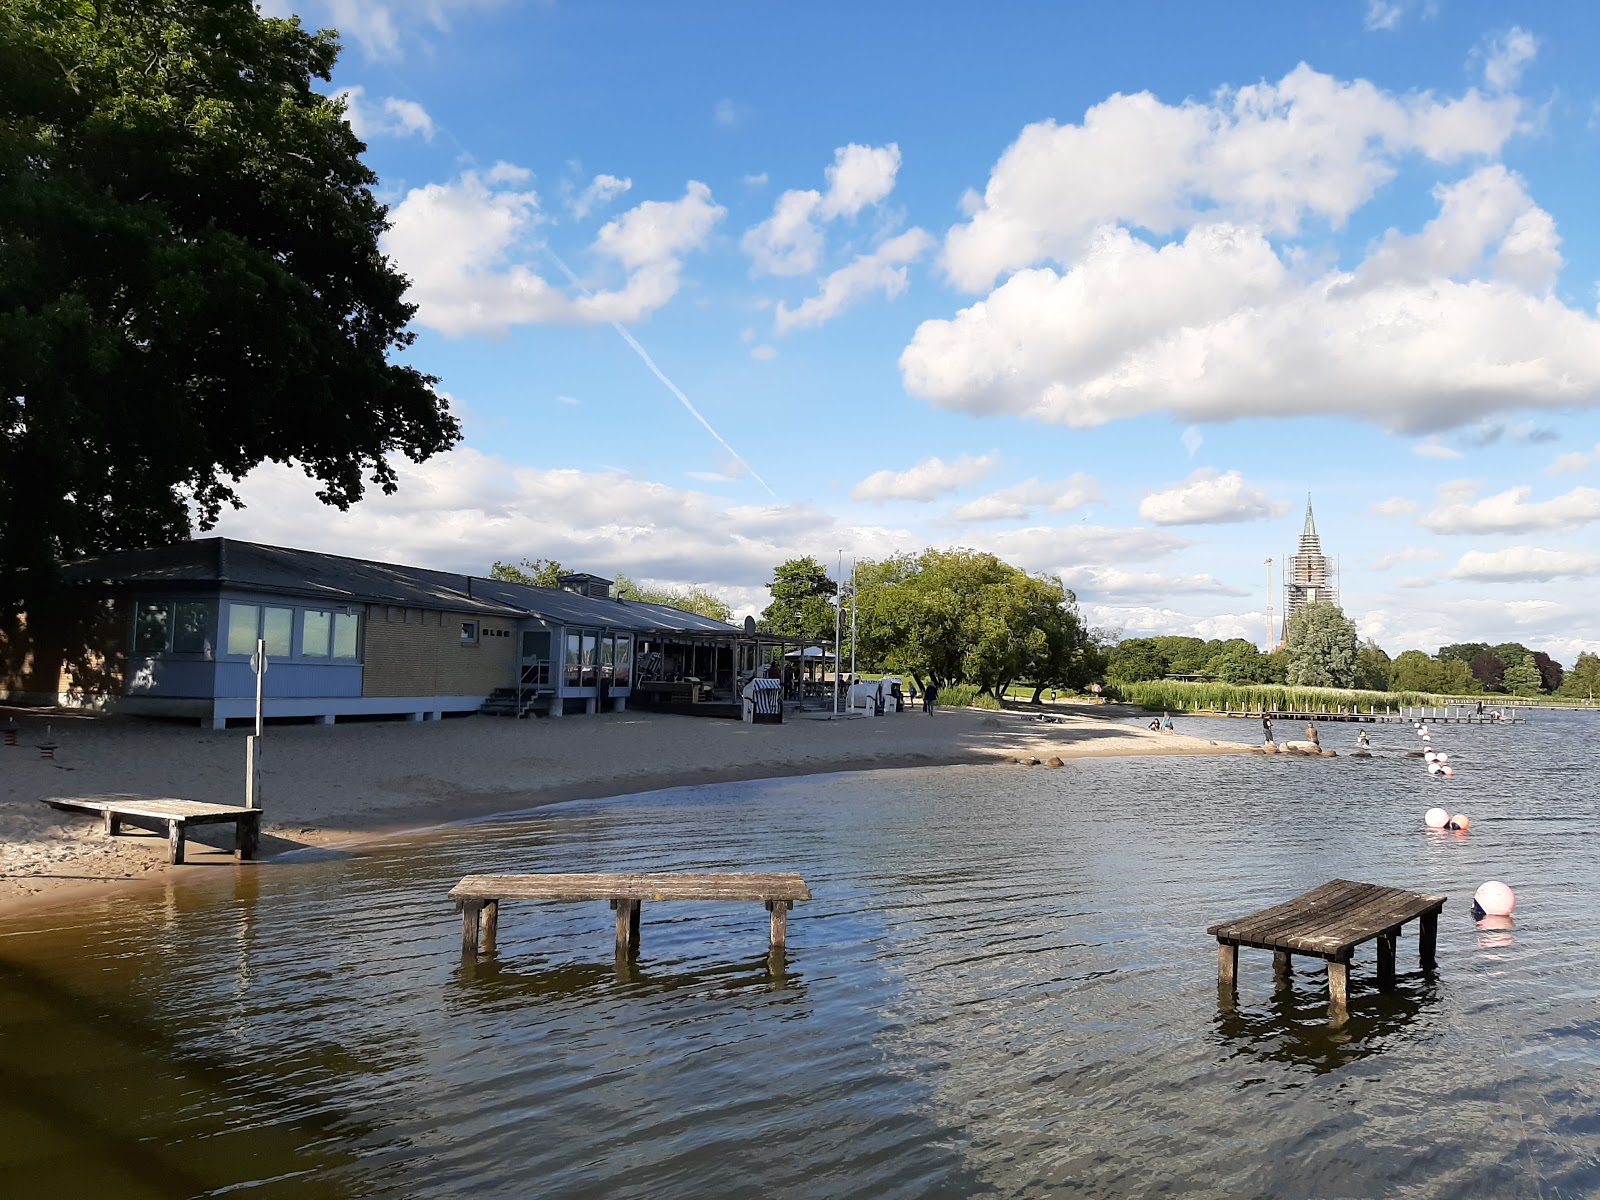
<path id="1" fill-rule="evenodd" d="M 704 245 L 726 210 L 690 181 L 680 200 L 646 200 L 595 237 L 594 254 L 626 272 L 621 286 L 570 294 L 525 261 L 542 222 L 531 173 L 510 163 L 413 189 L 390 213 L 382 248 L 411 278 L 418 322 L 448 336 L 512 325 L 632 322 L 678 290 L 683 256 Z"/>

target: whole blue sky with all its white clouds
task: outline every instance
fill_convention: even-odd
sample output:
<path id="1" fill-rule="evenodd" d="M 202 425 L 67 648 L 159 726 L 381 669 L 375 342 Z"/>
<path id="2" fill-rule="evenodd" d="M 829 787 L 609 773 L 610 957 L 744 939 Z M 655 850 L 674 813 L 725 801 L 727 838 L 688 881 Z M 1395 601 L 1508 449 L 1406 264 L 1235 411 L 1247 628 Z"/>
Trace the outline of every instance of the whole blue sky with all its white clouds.
<path id="1" fill-rule="evenodd" d="M 466 440 L 229 536 L 741 613 L 971 546 L 1264 642 L 1310 494 L 1390 653 L 1600 650 L 1592 5 L 261 6 L 342 32 Z"/>

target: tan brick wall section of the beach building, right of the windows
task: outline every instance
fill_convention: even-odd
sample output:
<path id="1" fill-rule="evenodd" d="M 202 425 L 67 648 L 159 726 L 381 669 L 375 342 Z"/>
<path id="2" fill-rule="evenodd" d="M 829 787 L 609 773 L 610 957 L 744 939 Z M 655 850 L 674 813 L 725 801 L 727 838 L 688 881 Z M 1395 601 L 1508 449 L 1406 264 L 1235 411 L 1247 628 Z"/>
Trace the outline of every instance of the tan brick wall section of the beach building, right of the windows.
<path id="1" fill-rule="evenodd" d="M 478 622 L 477 645 L 461 622 Z M 368 605 L 363 696 L 478 696 L 517 682 L 517 627 L 499 618 Z"/>

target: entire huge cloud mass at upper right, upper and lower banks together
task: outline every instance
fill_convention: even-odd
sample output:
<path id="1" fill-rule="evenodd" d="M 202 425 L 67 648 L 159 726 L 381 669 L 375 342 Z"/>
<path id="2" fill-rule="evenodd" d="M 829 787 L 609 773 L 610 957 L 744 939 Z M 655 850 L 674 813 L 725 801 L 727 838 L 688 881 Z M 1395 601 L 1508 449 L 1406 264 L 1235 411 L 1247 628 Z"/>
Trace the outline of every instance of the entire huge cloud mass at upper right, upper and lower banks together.
<path id="1" fill-rule="evenodd" d="M 1554 291 L 1560 237 L 1514 171 L 1440 184 L 1422 229 L 1354 266 L 1328 235 L 1402 168 L 1499 152 L 1520 114 L 1514 96 L 1299 67 L 1205 104 L 1114 96 L 1082 125 L 1027 126 L 946 235 L 950 278 L 992 290 L 918 326 L 904 386 L 1072 427 L 1349 414 L 1430 434 L 1595 405 L 1600 320 Z"/>

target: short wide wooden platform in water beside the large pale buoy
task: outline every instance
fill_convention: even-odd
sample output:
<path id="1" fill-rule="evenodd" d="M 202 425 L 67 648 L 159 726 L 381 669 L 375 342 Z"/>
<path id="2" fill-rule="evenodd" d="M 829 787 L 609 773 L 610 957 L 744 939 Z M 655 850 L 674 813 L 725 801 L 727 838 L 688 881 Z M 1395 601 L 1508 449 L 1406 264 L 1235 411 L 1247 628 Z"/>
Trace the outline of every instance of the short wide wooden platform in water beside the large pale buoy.
<path id="1" fill-rule="evenodd" d="M 1395 986 L 1395 941 L 1406 922 L 1421 918 L 1418 954 L 1424 968 L 1434 966 L 1438 910 L 1445 899 L 1336 878 L 1285 904 L 1213 925 L 1206 933 L 1218 941 L 1218 986 L 1235 986 L 1240 946 L 1272 950 L 1274 973 L 1280 978 L 1288 976 L 1291 955 L 1301 954 L 1328 963 L 1328 1002 L 1344 1010 L 1350 995 L 1350 955 L 1365 941 L 1378 939 L 1378 989 L 1382 992 Z"/>

